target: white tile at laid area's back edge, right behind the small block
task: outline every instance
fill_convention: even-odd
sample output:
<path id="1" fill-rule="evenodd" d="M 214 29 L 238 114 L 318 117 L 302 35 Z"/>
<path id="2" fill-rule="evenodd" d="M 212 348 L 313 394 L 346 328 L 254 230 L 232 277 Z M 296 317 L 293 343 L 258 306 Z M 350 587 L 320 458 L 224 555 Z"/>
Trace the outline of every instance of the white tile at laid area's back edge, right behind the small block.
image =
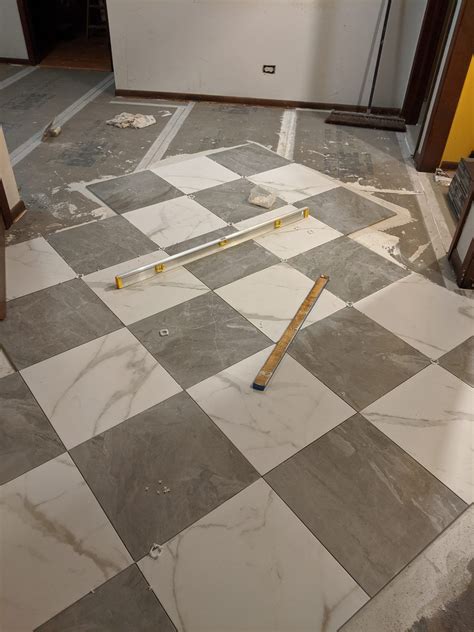
<path id="1" fill-rule="evenodd" d="M 249 180 L 275 192 L 290 204 L 339 186 L 322 173 L 296 163 L 258 173 Z"/>

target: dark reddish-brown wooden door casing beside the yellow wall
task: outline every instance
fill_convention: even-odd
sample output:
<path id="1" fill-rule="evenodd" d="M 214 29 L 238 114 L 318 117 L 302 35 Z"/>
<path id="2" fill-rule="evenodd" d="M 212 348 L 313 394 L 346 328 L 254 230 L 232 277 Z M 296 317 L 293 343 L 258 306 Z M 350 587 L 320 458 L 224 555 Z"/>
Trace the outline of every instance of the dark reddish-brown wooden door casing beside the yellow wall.
<path id="1" fill-rule="evenodd" d="M 474 0 L 462 0 L 425 137 L 415 151 L 418 171 L 435 171 L 441 163 L 473 53 Z"/>

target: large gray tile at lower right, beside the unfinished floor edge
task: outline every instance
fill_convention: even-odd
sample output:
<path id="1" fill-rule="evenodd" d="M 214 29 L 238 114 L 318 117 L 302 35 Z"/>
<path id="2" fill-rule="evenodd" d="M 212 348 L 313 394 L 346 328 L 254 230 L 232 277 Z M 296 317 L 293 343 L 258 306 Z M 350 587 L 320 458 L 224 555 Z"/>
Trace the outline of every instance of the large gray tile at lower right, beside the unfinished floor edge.
<path id="1" fill-rule="evenodd" d="M 466 507 L 361 415 L 266 479 L 370 595 Z"/>

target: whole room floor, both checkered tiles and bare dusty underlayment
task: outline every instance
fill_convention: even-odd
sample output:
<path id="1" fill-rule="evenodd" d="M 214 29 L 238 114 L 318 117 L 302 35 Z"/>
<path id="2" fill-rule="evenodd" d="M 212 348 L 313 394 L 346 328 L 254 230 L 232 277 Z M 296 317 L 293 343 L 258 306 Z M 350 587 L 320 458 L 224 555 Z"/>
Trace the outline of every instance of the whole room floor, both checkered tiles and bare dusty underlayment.
<path id="1" fill-rule="evenodd" d="M 404 135 L 6 65 L 0 109 L 2 629 L 468 630 L 474 309 Z"/>

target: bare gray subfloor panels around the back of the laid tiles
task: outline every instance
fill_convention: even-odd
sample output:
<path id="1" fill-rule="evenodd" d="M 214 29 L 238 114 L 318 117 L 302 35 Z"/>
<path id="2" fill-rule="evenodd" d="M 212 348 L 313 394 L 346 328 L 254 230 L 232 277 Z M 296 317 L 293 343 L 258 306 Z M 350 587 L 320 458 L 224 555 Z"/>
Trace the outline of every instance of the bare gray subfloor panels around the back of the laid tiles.
<path id="1" fill-rule="evenodd" d="M 3 73 L 10 70 L 3 70 Z M 1 121 L 10 151 L 28 134 L 40 130 L 75 98 L 106 76 L 92 71 L 40 68 L 0 92 Z M 2 94 L 2 92 L 4 94 Z M 41 92 L 41 107 L 33 96 Z M 123 105 L 111 101 L 123 102 Z M 139 103 L 140 105 L 131 105 Z M 24 158 L 15 173 L 30 213 L 7 236 L 18 243 L 49 235 L 69 226 L 103 217 L 98 200 L 80 193 L 82 183 L 133 172 L 150 145 L 163 131 L 175 109 L 157 108 L 159 101 L 115 99 L 113 87 L 97 96 L 64 125 L 56 139 L 41 144 Z M 15 104 L 20 104 L 18 109 Z M 183 102 L 175 102 L 183 105 Z M 143 130 L 116 130 L 104 125 L 115 114 L 137 107 L 155 114 L 157 125 Z M 200 102 L 172 138 L 164 159 L 232 147 L 248 140 L 276 150 L 282 108 Z M 297 112 L 294 159 L 405 208 L 400 221 L 384 228 L 382 241 L 390 257 L 442 282 L 437 255 L 430 244 L 419 199 L 403 161 L 397 135 L 392 132 L 326 125 L 326 113 Z M 386 237 L 389 237 L 387 240 Z M 385 243 L 386 242 L 386 243 Z"/>

